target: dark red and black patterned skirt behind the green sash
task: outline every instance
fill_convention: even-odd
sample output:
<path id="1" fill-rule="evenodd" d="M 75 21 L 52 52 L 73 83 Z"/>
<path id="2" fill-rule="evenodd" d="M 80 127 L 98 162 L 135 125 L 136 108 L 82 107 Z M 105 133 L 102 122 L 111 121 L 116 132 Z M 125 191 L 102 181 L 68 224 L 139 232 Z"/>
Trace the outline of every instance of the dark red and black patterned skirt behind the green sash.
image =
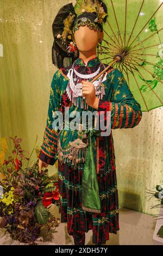
<path id="1" fill-rule="evenodd" d="M 101 213 L 95 214 L 82 209 L 83 169 L 83 163 L 71 166 L 58 162 L 61 222 L 67 222 L 69 235 L 92 229 L 92 243 L 105 243 L 109 233 L 117 234 L 120 229 L 116 170 L 108 169 L 97 174 Z"/>

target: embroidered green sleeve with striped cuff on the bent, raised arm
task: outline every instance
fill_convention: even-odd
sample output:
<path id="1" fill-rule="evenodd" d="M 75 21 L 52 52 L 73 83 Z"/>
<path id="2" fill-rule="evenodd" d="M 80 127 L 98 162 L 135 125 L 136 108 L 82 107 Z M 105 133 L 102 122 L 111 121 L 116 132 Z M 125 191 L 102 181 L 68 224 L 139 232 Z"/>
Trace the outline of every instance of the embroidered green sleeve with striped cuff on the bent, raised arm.
<path id="1" fill-rule="evenodd" d="M 111 129 L 133 128 L 141 120 L 141 106 L 131 93 L 123 74 L 114 70 L 112 75 L 112 99 L 100 99 L 98 111 L 104 111 L 104 114 L 111 111 Z"/>

